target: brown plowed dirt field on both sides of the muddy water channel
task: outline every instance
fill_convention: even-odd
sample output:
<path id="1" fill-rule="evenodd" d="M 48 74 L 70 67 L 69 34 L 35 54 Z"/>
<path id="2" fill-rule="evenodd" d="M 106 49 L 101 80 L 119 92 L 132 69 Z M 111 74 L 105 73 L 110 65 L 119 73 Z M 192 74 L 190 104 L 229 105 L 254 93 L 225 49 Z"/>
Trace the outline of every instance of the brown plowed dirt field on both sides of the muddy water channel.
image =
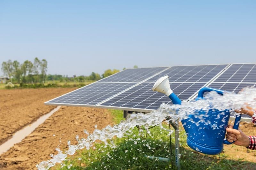
<path id="1" fill-rule="evenodd" d="M 45 101 L 74 89 L 0 90 L 2 141 L 55 107 L 44 105 Z M 84 129 L 92 133 L 95 125 L 102 129 L 111 122 L 107 109 L 62 106 L 29 136 L 0 156 L 0 169 L 36 169 L 36 164 L 58 153 L 55 148 L 65 150 L 68 140 L 76 144 L 76 135 L 86 137 Z"/>

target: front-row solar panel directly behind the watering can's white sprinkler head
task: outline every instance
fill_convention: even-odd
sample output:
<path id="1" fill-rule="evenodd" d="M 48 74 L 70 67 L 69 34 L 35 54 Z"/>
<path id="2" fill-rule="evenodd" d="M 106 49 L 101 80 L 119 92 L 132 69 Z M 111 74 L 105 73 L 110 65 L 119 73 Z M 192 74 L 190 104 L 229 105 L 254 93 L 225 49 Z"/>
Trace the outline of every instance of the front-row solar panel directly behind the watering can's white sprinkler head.
<path id="1" fill-rule="evenodd" d="M 194 94 L 205 83 L 170 83 L 172 91 L 181 99 L 187 100 L 191 94 Z M 137 111 L 156 110 L 162 103 L 172 104 L 172 101 L 163 93 L 153 92 L 154 83 L 141 83 L 130 90 L 127 90 L 114 98 L 103 102 L 99 107 L 112 107 Z"/>

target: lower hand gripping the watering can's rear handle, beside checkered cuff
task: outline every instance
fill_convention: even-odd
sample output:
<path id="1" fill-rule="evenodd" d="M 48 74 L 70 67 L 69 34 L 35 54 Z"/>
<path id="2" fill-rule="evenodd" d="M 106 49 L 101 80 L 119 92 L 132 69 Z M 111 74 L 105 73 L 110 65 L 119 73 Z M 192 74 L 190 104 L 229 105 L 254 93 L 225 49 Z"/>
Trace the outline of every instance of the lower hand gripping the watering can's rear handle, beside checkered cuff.
<path id="1" fill-rule="evenodd" d="M 248 147 L 250 144 L 250 139 L 247 135 L 241 130 L 241 129 L 233 129 L 233 125 L 228 125 L 228 128 L 226 128 L 227 131 L 227 141 L 228 142 L 234 142 L 234 144 L 238 146 L 245 146 Z"/>

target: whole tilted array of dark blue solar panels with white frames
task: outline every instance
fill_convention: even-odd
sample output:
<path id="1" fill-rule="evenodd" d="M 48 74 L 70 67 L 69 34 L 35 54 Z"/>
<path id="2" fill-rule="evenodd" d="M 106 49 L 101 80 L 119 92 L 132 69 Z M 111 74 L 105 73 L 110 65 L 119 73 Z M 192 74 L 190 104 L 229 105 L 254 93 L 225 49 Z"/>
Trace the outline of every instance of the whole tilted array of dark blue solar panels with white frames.
<path id="1" fill-rule="evenodd" d="M 172 91 L 181 100 L 193 99 L 198 90 L 210 86 L 238 92 L 256 84 L 256 64 L 213 64 L 127 69 L 45 102 L 47 105 L 115 108 L 150 112 L 171 100 L 152 87 L 169 76 Z"/>

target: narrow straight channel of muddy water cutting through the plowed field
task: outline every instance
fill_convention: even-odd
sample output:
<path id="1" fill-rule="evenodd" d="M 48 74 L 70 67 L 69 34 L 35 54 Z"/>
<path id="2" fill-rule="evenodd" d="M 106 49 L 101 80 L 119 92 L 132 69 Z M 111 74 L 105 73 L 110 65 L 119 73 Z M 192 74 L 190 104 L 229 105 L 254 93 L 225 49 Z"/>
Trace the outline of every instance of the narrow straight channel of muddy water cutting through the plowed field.
<path id="1" fill-rule="evenodd" d="M 54 112 L 58 111 L 60 109 L 60 106 L 52 109 L 51 112 L 41 116 L 36 120 L 36 122 L 33 122 L 26 127 L 20 129 L 17 131 L 11 139 L 7 140 L 4 144 L 0 145 L 0 155 L 6 151 L 8 151 L 14 144 L 21 142 L 22 139 L 24 139 L 26 136 L 28 136 L 33 130 L 36 129 L 41 123 L 43 123 L 48 117 L 50 117 Z"/>

